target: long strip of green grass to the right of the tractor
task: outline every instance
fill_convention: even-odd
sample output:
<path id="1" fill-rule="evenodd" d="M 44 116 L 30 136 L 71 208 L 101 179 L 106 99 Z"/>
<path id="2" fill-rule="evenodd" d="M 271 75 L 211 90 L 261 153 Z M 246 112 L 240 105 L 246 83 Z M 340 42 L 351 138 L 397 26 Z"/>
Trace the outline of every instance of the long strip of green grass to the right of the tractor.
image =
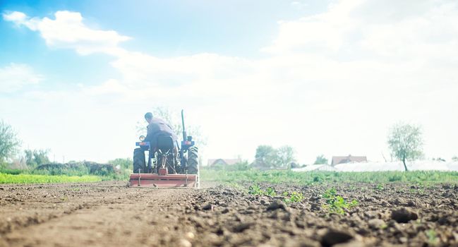
<path id="1" fill-rule="evenodd" d="M 226 183 L 289 183 L 308 185 L 312 183 L 458 183 L 457 171 L 365 171 L 365 172 L 337 172 L 337 171 L 227 171 L 202 169 L 202 181 L 218 181 Z"/>

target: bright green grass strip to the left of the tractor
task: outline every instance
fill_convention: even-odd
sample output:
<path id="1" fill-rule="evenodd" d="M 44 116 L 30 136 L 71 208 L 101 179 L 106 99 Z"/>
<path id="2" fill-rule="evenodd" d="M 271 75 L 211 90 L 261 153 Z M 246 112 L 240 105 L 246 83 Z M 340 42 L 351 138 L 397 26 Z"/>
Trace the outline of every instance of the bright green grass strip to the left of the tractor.
<path id="1" fill-rule="evenodd" d="M 81 183 L 102 181 L 101 176 L 1 174 L 0 183 Z"/>

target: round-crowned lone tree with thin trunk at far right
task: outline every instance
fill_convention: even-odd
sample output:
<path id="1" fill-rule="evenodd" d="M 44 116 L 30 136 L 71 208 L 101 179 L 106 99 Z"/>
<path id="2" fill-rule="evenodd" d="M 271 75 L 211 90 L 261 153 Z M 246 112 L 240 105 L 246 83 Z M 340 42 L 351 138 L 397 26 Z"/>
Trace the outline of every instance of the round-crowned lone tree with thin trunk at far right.
<path id="1" fill-rule="evenodd" d="M 414 160 L 422 155 L 421 128 L 405 123 L 395 124 L 388 134 L 388 145 L 392 156 L 401 160 L 407 171 L 406 160 Z"/>

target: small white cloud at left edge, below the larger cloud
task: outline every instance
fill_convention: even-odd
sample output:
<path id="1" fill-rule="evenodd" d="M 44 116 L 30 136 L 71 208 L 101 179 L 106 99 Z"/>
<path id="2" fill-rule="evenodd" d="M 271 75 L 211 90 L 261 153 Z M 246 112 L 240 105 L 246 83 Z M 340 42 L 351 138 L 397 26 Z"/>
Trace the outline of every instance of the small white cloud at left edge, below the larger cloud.
<path id="1" fill-rule="evenodd" d="M 42 80 L 43 76 L 35 73 L 27 64 L 9 64 L 0 68 L 0 93 L 15 92 Z"/>

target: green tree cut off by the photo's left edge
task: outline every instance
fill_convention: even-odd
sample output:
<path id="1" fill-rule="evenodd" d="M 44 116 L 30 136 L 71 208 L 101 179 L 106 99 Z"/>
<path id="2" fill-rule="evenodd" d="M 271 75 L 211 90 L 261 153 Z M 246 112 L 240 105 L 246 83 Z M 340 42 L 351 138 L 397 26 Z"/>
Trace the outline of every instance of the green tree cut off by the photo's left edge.
<path id="1" fill-rule="evenodd" d="M 10 125 L 0 121 L 0 164 L 10 159 L 18 151 L 20 140 Z"/>

